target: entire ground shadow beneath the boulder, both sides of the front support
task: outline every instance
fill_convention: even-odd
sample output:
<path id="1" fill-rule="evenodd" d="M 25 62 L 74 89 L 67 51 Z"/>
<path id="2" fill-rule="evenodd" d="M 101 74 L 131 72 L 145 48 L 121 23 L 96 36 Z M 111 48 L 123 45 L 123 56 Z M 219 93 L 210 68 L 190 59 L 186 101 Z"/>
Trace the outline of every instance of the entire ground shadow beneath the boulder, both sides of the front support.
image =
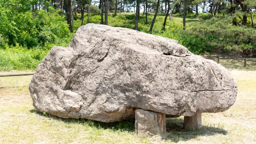
<path id="1" fill-rule="evenodd" d="M 53 120 L 61 120 L 65 123 L 81 124 L 88 125 L 97 129 L 112 129 L 112 130 L 121 130 L 126 132 L 135 132 L 134 123 L 135 119 L 122 120 L 120 122 L 98 122 L 95 120 L 86 120 L 86 119 L 74 119 L 74 118 L 60 118 L 58 116 L 53 116 L 38 110 L 30 110 L 31 113 L 35 113 L 38 116 Z M 166 133 L 161 134 L 163 140 L 171 140 L 172 142 L 187 141 L 199 136 L 213 136 L 216 134 L 226 135 L 227 131 L 212 126 L 201 126 L 200 128 L 194 131 L 184 130 L 184 119 L 183 118 L 166 118 Z"/>

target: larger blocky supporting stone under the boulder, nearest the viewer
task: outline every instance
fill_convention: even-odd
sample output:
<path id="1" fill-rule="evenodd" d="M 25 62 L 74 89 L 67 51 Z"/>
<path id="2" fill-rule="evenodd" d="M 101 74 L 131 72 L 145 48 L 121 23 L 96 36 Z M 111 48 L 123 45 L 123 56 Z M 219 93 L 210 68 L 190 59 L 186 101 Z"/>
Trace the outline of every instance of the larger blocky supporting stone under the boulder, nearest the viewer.
<path id="1" fill-rule="evenodd" d="M 135 111 L 135 130 L 139 135 L 156 135 L 166 132 L 165 114 L 139 109 Z"/>

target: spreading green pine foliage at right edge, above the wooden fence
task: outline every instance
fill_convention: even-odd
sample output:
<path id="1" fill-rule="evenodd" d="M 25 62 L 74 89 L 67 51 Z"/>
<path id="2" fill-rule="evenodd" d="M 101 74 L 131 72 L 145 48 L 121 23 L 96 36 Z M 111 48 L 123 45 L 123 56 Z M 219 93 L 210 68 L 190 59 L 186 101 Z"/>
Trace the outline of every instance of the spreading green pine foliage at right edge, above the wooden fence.
<path id="1" fill-rule="evenodd" d="M 206 42 L 212 48 L 222 47 L 224 50 L 256 49 L 256 29 L 232 26 L 234 17 L 213 17 L 200 24 L 191 23 L 188 33 Z M 250 44 L 250 46 L 246 46 Z"/>

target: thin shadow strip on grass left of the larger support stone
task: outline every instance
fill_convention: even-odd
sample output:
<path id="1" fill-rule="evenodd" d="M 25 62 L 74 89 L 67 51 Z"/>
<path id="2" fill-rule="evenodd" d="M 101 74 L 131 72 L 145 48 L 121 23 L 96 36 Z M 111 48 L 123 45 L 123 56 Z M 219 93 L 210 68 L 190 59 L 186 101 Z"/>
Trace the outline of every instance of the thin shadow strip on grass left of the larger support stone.
<path id="1" fill-rule="evenodd" d="M 121 131 L 127 131 L 127 132 L 134 132 L 134 123 L 135 119 L 130 119 L 130 120 L 122 120 L 120 122 L 99 122 L 95 120 L 86 120 L 86 119 L 76 119 L 76 118 L 60 118 L 58 116 L 53 116 L 50 115 L 46 112 L 40 112 L 38 110 L 30 110 L 31 113 L 38 114 L 39 116 L 43 116 L 49 119 L 53 120 L 60 120 L 65 123 L 73 123 L 73 124 L 81 124 L 81 125 L 87 125 L 90 127 L 94 127 L 97 129 L 112 129 L 112 130 L 121 130 Z"/>

